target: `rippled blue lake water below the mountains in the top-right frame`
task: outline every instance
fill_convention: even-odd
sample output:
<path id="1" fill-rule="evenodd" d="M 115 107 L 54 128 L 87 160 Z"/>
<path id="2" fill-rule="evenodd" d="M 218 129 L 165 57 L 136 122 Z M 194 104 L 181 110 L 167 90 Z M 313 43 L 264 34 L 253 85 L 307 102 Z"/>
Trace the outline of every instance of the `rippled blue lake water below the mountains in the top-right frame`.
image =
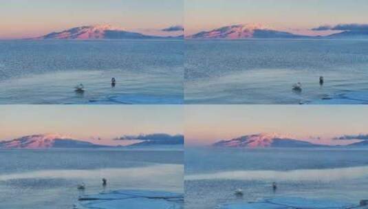
<path id="1" fill-rule="evenodd" d="M 187 104 L 368 104 L 367 40 L 191 40 L 185 45 Z M 292 90 L 298 82 L 301 92 Z"/>

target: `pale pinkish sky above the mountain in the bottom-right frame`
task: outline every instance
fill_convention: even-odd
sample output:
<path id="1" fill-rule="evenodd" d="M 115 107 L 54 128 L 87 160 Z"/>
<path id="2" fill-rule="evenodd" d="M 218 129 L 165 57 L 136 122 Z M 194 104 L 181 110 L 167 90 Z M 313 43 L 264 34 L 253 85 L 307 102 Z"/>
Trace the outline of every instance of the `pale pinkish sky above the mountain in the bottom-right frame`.
<path id="1" fill-rule="evenodd" d="M 332 141 L 332 137 L 368 133 L 368 107 L 363 106 L 188 105 L 184 109 L 188 146 L 255 133 L 280 133 L 334 144 L 337 140 Z"/>

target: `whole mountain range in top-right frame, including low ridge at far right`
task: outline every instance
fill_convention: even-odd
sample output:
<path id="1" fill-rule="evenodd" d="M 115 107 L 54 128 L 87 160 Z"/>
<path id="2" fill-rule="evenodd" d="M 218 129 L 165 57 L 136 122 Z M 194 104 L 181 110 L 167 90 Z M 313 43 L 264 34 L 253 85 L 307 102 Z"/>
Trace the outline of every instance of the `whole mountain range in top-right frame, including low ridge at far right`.
<path id="1" fill-rule="evenodd" d="M 368 39 L 368 32 L 346 30 L 327 36 L 305 36 L 272 30 L 261 24 L 239 24 L 199 32 L 186 39 Z"/>

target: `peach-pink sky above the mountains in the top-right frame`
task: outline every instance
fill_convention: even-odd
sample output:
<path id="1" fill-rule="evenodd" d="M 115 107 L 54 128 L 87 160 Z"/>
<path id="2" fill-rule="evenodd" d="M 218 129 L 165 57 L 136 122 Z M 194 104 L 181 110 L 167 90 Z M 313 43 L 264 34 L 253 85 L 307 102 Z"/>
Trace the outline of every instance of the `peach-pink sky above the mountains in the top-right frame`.
<path id="1" fill-rule="evenodd" d="M 240 23 L 261 23 L 297 34 L 331 34 L 309 29 L 368 23 L 367 11 L 366 0 L 186 0 L 184 26 L 186 35 Z"/>

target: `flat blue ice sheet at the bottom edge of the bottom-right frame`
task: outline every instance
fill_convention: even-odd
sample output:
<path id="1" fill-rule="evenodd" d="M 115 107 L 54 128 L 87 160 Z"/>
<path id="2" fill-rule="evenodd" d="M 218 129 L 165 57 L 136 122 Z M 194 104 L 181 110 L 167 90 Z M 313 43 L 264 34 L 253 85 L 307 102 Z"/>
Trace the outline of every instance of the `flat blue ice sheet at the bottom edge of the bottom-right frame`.
<path id="1" fill-rule="evenodd" d="M 232 203 L 219 206 L 219 209 L 347 209 L 351 203 L 325 199 L 305 199 L 301 197 L 279 197 L 255 203 Z M 356 206 L 355 206 L 356 207 Z"/>

